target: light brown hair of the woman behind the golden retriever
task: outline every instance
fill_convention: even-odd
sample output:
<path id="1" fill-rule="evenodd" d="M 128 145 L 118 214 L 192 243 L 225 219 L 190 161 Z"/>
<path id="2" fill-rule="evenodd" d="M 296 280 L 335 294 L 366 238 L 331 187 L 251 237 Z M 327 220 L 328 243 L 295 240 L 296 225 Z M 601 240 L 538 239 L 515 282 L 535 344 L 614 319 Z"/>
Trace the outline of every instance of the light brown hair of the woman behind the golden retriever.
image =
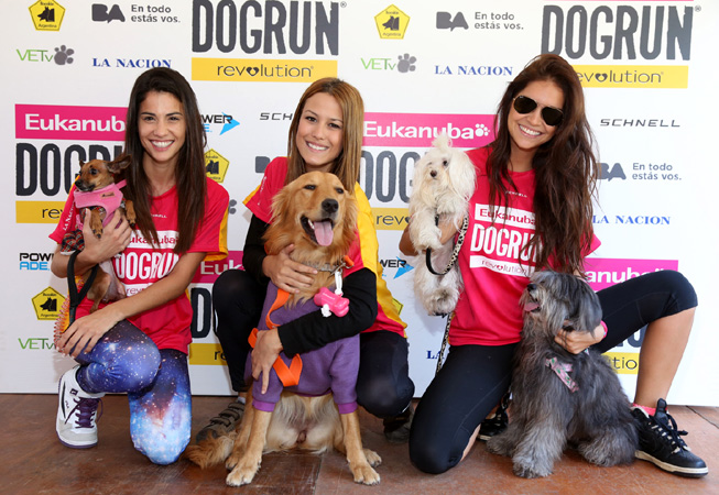
<path id="1" fill-rule="evenodd" d="M 299 119 L 309 98 L 318 92 L 335 97 L 342 109 L 342 151 L 335 158 L 331 172 L 342 183 L 349 194 L 355 194 L 355 183 L 359 180 L 360 161 L 362 158 L 362 134 L 364 125 L 364 102 L 357 88 L 344 80 L 326 77 L 314 81 L 299 98 L 297 108 L 290 124 L 287 136 L 287 176 L 285 185 L 307 172 L 295 138 Z"/>

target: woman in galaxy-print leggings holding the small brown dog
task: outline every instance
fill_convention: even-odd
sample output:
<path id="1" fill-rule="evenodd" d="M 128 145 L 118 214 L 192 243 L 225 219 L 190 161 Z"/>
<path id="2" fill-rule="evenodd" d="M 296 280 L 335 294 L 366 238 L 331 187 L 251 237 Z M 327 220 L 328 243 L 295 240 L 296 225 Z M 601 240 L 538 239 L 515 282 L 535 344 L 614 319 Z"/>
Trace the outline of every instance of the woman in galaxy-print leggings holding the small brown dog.
<path id="1" fill-rule="evenodd" d="M 77 308 L 57 349 L 79 363 L 59 381 L 56 430 L 72 448 L 97 444 L 97 408 L 105 393 L 127 393 L 135 449 L 152 462 L 176 461 L 189 442 L 192 402 L 187 352 L 192 306 L 186 294 L 204 260 L 227 255 L 229 196 L 205 174 L 205 131 L 195 94 L 177 72 L 150 69 L 135 80 L 128 108 L 124 197 L 137 213 L 132 230 L 119 211 L 102 235 L 85 222 L 85 249 L 74 274 L 110 260 L 127 297 Z M 59 243 L 78 211 L 70 190 L 51 239 L 52 271 L 68 276 Z"/>

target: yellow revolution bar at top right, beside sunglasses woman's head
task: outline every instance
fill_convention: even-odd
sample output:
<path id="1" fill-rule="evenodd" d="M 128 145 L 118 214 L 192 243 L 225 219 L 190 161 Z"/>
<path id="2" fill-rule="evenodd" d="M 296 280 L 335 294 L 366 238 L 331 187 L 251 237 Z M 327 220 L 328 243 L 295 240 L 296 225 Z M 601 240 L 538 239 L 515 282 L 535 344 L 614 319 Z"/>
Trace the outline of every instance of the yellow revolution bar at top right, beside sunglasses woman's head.
<path id="1" fill-rule="evenodd" d="M 685 89 L 689 84 L 686 65 L 575 65 L 585 88 Z"/>

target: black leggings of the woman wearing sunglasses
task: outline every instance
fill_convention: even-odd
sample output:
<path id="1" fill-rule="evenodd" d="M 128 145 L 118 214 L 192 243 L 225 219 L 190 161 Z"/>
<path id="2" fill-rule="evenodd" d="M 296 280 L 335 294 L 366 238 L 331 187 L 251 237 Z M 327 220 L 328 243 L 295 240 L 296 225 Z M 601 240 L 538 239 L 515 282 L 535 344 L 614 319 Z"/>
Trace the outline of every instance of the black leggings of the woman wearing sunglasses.
<path id="1" fill-rule="evenodd" d="M 679 273 L 663 271 L 631 278 L 597 293 L 607 337 L 606 352 L 645 324 L 697 306 Z M 518 344 L 457 345 L 424 393 L 410 433 L 410 459 L 426 473 L 444 473 L 460 460 L 469 439 L 510 386 Z"/>

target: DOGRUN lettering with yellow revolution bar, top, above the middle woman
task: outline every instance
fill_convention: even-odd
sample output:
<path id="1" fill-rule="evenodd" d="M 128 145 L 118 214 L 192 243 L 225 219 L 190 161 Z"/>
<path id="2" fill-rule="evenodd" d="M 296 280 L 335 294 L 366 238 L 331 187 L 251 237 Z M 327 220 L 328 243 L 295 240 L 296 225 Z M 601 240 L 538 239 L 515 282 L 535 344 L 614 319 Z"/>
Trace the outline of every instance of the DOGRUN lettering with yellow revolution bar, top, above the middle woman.
<path id="1" fill-rule="evenodd" d="M 194 0 L 193 52 L 336 57 L 338 2 Z M 336 58 L 198 58 L 193 80 L 313 82 L 337 77 Z"/>

